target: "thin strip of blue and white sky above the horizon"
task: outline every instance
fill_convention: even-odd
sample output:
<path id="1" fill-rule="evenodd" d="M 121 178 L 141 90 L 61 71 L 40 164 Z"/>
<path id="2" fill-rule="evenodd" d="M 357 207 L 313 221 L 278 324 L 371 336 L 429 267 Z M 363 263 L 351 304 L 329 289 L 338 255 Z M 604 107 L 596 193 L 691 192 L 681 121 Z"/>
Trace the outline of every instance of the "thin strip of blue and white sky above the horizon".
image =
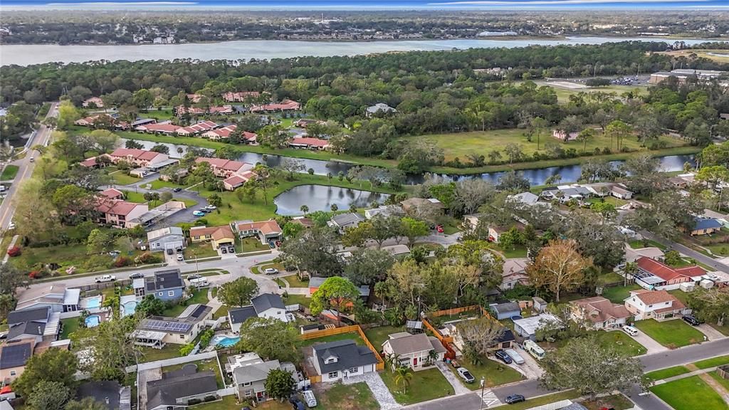
<path id="1" fill-rule="evenodd" d="M 727 9 L 729 0 L 0 0 L 3 7 L 243 9 Z"/>

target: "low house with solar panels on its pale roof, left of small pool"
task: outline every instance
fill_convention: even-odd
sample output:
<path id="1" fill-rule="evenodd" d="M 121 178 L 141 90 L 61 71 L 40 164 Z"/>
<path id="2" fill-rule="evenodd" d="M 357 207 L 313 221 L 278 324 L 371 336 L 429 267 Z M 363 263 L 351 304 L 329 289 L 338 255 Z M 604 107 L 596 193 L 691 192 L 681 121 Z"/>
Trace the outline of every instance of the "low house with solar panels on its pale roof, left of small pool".
<path id="1" fill-rule="evenodd" d="M 187 344 L 198 337 L 213 317 L 213 308 L 200 303 L 187 306 L 178 317 L 150 316 L 139 322 L 132 337 L 139 346 L 162 349 L 166 344 Z"/>

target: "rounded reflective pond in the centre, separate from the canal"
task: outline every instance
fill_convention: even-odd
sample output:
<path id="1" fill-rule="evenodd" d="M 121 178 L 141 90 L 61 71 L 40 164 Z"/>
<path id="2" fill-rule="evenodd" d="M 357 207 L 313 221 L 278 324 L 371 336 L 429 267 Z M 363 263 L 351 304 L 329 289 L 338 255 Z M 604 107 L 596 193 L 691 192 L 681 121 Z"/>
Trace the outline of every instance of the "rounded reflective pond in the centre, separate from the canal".
<path id="1" fill-rule="evenodd" d="M 302 204 L 309 207 L 308 212 L 329 212 L 332 205 L 336 205 L 340 210 L 349 209 L 351 204 L 354 204 L 357 208 L 369 208 L 373 202 L 382 204 L 388 197 L 389 194 L 386 193 L 374 193 L 351 188 L 300 185 L 279 194 L 276 198 L 273 198 L 273 203 L 278 206 L 276 214 L 291 216 L 302 213 Z"/>

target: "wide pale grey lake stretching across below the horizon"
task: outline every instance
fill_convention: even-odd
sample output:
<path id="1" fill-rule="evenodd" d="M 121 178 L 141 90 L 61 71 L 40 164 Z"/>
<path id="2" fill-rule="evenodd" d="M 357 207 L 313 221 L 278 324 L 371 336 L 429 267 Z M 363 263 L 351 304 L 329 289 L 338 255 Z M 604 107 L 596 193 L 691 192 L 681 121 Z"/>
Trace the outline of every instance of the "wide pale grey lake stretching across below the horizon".
<path id="1" fill-rule="evenodd" d="M 85 61 L 174 60 L 250 60 L 292 58 L 313 55 L 362 55 L 390 51 L 452 50 L 488 47 L 526 47 L 529 45 L 603 44 L 607 42 L 644 41 L 673 43 L 677 39 L 625 37 L 567 37 L 545 39 L 454 39 L 454 40 L 394 40 L 379 42 L 311 42 L 286 40 L 243 40 L 234 42 L 196 43 L 179 45 L 3 45 L 0 66 L 17 64 L 83 63 Z M 687 45 L 709 40 L 682 39 Z M 715 40 L 711 40 L 715 41 Z"/>

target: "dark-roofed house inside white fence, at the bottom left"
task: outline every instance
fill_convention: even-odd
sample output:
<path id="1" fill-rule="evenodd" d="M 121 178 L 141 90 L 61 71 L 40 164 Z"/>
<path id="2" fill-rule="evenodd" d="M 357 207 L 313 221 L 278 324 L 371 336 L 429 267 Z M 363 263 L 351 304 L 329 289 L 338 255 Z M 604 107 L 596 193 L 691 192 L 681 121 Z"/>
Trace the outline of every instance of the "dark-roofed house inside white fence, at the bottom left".
<path id="1" fill-rule="evenodd" d="M 147 410 L 184 409 L 190 401 L 217 398 L 217 382 L 213 371 L 198 371 L 196 366 L 162 374 L 162 379 L 147 382 Z M 195 403 L 195 402 L 193 402 Z"/>

